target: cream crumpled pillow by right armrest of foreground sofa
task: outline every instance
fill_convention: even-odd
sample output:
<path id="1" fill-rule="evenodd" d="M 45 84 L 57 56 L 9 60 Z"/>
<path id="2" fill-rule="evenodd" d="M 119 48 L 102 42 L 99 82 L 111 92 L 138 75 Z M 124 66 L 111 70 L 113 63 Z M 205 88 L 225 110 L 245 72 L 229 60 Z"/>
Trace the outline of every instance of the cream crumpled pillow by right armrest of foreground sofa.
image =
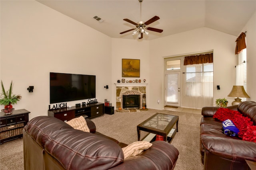
<path id="1" fill-rule="evenodd" d="M 152 146 L 152 143 L 149 143 L 147 141 L 137 141 L 134 143 L 131 143 L 127 147 L 122 148 L 124 152 L 124 158 L 129 158 L 131 156 L 135 156 L 140 154 L 145 149 L 148 149 Z"/>

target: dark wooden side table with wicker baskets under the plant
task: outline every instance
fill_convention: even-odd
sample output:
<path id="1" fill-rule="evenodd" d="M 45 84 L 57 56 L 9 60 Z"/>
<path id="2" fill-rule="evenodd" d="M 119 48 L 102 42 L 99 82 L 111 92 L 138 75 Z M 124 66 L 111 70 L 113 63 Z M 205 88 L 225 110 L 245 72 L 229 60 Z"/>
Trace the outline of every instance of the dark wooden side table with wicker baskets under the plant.
<path id="1" fill-rule="evenodd" d="M 28 123 L 26 109 L 14 110 L 11 115 L 0 112 L 0 144 L 23 137 L 23 128 Z"/>

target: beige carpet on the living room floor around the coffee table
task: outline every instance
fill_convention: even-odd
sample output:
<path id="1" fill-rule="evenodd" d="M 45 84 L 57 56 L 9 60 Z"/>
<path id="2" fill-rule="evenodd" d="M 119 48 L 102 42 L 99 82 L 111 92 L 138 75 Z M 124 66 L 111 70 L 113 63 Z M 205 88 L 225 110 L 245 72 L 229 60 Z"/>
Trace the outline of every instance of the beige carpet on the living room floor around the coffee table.
<path id="1" fill-rule="evenodd" d="M 96 130 L 126 144 L 137 141 L 137 125 L 155 113 L 178 115 L 178 133 L 172 140 L 180 154 L 174 170 L 203 170 L 201 163 L 200 119 L 202 115 L 178 111 L 155 110 L 142 112 L 116 112 L 113 115 L 91 119 Z M 176 127 L 176 126 L 174 126 Z M 141 131 L 141 139 L 147 133 Z M 16 139 L 0 145 L 0 170 L 23 170 L 23 141 Z"/>

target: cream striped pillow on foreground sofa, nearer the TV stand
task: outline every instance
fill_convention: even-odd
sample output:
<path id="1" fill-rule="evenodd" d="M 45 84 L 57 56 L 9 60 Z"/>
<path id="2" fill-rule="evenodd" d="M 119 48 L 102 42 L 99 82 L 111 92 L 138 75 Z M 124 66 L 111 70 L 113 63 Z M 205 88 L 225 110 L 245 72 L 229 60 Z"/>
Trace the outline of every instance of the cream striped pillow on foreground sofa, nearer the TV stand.
<path id="1" fill-rule="evenodd" d="M 84 132 L 90 132 L 87 122 L 84 119 L 84 117 L 82 117 L 82 116 L 71 119 L 70 121 L 67 121 L 66 123 L 68 123 L 68 125 L 72 126 L 74 129 L 78 129 L 78 130 L 84 131 Z"/>

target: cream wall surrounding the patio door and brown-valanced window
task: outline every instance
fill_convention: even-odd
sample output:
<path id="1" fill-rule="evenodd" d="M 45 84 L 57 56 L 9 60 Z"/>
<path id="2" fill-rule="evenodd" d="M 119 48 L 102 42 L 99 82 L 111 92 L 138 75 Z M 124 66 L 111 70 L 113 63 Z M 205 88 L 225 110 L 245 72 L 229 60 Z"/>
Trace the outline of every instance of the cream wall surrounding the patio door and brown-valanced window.
<path id="1" fill-rule="evenodd" d="M 213 50 L 214 102 L 227 97 L 235 83 L 236 37 L 206 27 L 150 41 L 150 107 L 164 106 L 164 58 Z M 220 85 L 220 90 L 216 86 Z M 157 104 L 160 99 L 160 104 Z M 182 105 L 181 105 L 182 106 Z"/>

